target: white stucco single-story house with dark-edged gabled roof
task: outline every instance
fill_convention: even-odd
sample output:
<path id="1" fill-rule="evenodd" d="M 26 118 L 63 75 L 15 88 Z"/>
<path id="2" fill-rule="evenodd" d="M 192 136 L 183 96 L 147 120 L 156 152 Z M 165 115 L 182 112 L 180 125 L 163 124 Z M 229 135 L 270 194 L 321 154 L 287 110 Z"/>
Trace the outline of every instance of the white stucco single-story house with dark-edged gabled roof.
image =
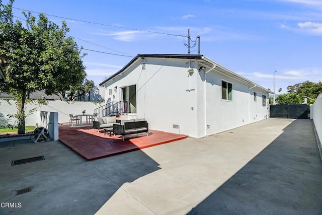
<path id="1" fill-rule="evenodd" d="M 204 137 L 269 117 L 273 93 L 204 55 L 138 54 L 100 86 L 149 128 Z"/>

